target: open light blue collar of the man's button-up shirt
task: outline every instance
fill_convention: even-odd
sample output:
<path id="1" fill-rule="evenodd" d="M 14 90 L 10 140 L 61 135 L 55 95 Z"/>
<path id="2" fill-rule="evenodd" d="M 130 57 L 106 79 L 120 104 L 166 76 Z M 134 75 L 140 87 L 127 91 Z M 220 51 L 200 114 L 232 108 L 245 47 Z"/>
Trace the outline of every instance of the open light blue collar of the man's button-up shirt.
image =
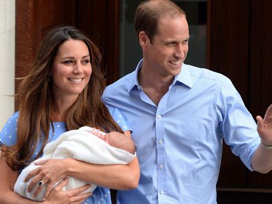
<path id="1" fill-rule="evenodd" d="M 135 71 L 133 72 L 131 82 L 128 84 L 128 92 L 130 92 L 134 87 L 139 87 L 138 73 L 141 70 L 142 66 L 143 66 L 143 59 L 139 61 Z M 192 78 L 189 71 L 189 65 L 185 65 L 183 63 L 181 72 L 177 76 L 174 77 L 172 84 L 176 84 L 177 81 L 192 88 Z"/>

